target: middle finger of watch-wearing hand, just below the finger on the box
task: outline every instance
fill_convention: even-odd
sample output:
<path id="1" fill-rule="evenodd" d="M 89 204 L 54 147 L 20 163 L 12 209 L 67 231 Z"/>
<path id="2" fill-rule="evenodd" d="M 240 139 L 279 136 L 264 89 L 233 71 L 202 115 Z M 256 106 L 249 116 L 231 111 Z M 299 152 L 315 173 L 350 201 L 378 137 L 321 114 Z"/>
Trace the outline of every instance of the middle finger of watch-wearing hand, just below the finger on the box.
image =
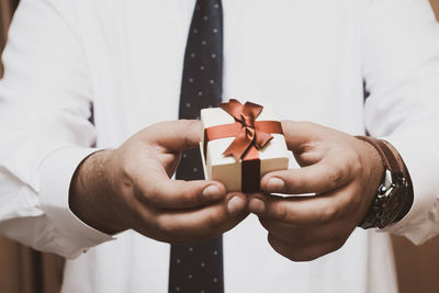
<path id="1" fill-rule="evenodd" d="M 315 196 L 252 195 L 248 209 L 268 219 L 294 225 L 323 225 L 342 218 L 357 204 L 352 185 Z M 352 205 L 352 206 L 351 206 Z"/>

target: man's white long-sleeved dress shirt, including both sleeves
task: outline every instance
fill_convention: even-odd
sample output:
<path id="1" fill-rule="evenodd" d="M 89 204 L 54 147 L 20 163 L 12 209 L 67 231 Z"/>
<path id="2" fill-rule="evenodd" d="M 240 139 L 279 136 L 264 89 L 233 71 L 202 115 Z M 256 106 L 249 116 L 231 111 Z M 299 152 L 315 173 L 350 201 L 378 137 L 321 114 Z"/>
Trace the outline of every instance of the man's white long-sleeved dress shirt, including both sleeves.
<path id="1" fill-rule="evenodd" d="M 93 147 L 178 117 L 194 2 L 20 3 L 0 82 L 0 232 L 69 258 L 64 293 L 167 292 L 169 245 L 87 226 L 68 189 Z M 224 100 L 270 102 L 280 119 L 387 139 L 415 190 L 389 230 L 416 244 L 438 234 L 439 26 L 428 1 L 223 3 Z M 255 216 L 224 235 L 226 292 L 396 292 L 386 233 L 357 229 L 338 251 L 302 263 L 266 238 Z"/>

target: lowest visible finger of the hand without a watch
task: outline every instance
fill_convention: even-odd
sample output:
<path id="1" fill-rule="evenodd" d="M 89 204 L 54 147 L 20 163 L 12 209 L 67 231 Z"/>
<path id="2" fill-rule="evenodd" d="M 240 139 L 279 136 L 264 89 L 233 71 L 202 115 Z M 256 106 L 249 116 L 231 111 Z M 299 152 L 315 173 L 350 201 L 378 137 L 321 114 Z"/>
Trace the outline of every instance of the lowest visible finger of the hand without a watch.
<path id="1" fill-rule="evenodd" d="M 230 205 L 233 206 L 230 211 Z M 246 212 L 247 199 L 243 193 L 227 194 L 225 201 L 192 211 L 169 211 L 150 217 L 157 230 L 172 244 L 207 239 L 229 230 L 241 222 Z"/>

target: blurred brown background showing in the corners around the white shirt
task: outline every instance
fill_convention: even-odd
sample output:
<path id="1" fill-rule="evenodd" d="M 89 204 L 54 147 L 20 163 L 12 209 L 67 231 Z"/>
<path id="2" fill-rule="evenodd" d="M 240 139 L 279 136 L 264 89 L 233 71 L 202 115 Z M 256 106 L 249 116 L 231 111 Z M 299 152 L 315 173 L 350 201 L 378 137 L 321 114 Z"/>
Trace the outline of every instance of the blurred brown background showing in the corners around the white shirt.
<path id="1" fill-rule="evenodd" d="M 0 48 L 4 46 L 18 2 L 0 0 Z M 430 2 L 439 20 L 439 0 Z M 403 237 L 393 237 L 393 244 L 399 292 L 439 292 L 439 238 L 417 247 Z M 63 263 L 55 255 L 41 253 L 0 237 L 0 293 L 58 293 Z"/>

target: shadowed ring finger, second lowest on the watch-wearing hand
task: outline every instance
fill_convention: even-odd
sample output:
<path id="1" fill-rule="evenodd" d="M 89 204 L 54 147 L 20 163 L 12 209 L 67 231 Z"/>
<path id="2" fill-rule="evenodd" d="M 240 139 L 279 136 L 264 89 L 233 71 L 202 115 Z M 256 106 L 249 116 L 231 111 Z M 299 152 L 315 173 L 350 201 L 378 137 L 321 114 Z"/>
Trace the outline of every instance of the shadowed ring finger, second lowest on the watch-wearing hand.
<path id="1" fill-rule="evenodd" d="M 289 225 L 263 217 L 259 217 L 259 222 L 270 234 L 294 246 L 311 246 L 348 237 L 353 229 L 346 227 L 342 219 L 315 227 Z"/>

